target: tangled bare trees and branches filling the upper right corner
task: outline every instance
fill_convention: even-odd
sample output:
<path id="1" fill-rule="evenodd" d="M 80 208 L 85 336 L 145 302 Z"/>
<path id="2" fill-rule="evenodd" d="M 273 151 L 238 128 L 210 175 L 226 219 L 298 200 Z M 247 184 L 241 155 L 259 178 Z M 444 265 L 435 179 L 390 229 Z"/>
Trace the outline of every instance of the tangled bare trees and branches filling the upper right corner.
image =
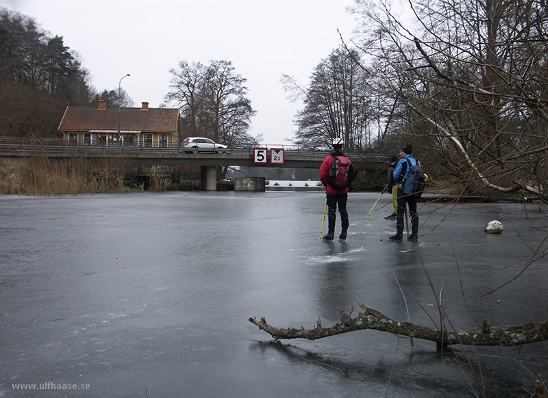
<path id="1" fill-rule="evenodd" d="M 547 199 L 543 1 L 410 3 L 415 25 L 407 27 L 381 4 L 358 0 L 355 12 L 368 70 L 397 93 L 391 133 L 429 152 L 469 191 Z"/>

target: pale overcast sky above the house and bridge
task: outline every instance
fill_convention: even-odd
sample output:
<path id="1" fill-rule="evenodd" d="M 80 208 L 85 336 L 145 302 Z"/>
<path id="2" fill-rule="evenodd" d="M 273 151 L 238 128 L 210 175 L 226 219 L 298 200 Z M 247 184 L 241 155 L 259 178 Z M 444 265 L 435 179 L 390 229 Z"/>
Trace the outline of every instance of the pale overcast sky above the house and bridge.
<path id="1" fill-rule="evenodd" d="M 257 114 L 251 135 L 288 144 L 300 104 L 279 82 L 308 84 L 313 68 L 352 36 L 346 10 L 353 0 L 0 0 L 0 7 L 34 18 L 49 36 L 77 51 L 96 90 L 122 88 L 140 107 L 159 107 L 170 68 L 180 61 L 226 59 L 247 79 Z"/>

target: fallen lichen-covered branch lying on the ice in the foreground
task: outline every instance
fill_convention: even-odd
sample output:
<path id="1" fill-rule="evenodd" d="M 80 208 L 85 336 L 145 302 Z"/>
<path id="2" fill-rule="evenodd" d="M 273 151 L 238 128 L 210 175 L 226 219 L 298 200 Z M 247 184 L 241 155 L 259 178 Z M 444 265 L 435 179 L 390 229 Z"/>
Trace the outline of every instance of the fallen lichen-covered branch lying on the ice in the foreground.
<path id="1" fill-rule="evenodd" d="M 274 339 L 323 339 L 328 336 L 335 336 L 355 330 L 379 330 L 389 332 L 399 336 L 409 336 L 414 339 L 423 339 L 434 341 L 440 349 L 448 345 L 523 345 L 529 343 L 538 343 L 548 340 L 548 319 L 538 323 L 527 323 L 519 326 L 505 326 L 502 328 L 491 328 L 484 326 L 483 330 L 475 332 L 449 332 L 444 328 L 444 332 L 436 329 L 417 326 L 409 322 L 397 322 L 386 317 L 362 304 L 365 313 L 360 313 L 357 317 L 351 318 L 341 310 L 341 321 L 333 326 L 321 326 L 321 319 L 315 328 L 274 328 L 266 323 L 262 317 L 260 321 L 256 318 L 249 318 L 249 321 L 273 336 Z"/>

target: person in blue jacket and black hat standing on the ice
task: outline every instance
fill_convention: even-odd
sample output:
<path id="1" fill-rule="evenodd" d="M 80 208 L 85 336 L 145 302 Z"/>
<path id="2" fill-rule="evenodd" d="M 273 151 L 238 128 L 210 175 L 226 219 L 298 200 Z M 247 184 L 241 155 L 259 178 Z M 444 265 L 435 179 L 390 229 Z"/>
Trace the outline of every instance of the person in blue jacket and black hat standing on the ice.
<path id="1" fill-rule="evenodd" d="M 398 187 L 397 207 L 398 213 L 396 218 L 396 235 L 392 235 L 390 239 L 393 241 L 401 241 L 403 239 L 403 213 L 406 211 L 406 205 L 409 207 L 411 215 L 411 235 L 407 239 L 416 241 L 419 239 L 419 215 L 416 213 L 416 196 L 412 192 L 403 190 L 403 183 L 410 172 L 410 168 L 416 165 L 416 160 L 412 157 L 413 147 L 406 145 L 399 150 L 399 161 L 394 169 L 393 176 Z"/>

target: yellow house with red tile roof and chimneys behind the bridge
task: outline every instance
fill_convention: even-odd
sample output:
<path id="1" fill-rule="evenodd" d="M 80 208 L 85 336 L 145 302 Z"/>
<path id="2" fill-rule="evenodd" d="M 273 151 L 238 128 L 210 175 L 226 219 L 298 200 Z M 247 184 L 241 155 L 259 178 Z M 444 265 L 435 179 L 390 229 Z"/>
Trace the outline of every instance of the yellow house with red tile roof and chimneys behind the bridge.
<path id="1" fill-rule="evenodd" d="M 181 135 L 179 109 L 66 107 L 58 127 L 63 139 L 77 145 L 177 146 Z"/>

